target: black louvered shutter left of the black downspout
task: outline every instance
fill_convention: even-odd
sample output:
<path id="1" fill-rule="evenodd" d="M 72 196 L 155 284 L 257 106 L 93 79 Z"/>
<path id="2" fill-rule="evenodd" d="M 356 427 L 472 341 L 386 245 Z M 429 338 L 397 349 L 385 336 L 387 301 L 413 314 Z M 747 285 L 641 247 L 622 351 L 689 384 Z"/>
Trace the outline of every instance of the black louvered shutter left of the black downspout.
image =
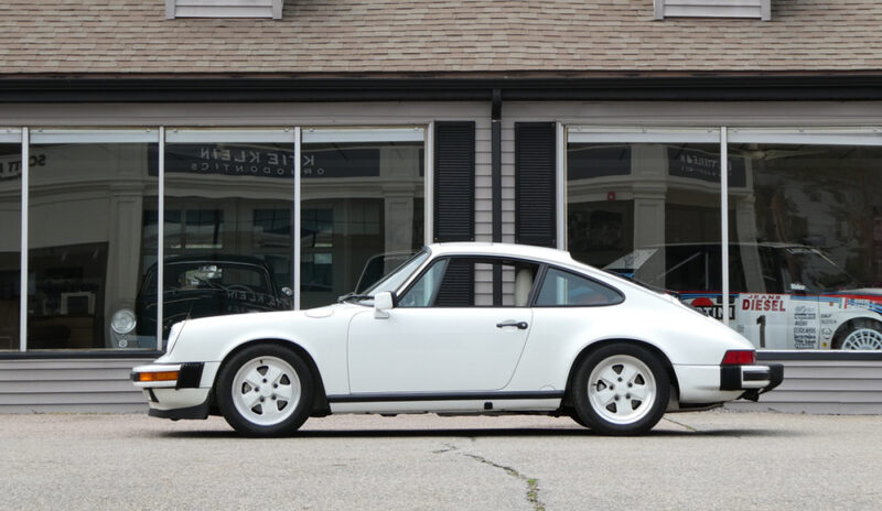
<path id="1" fill-rule="evenodd" d="M 475 239 L 475 123 L 434 124 L 434 241 Z"/>

